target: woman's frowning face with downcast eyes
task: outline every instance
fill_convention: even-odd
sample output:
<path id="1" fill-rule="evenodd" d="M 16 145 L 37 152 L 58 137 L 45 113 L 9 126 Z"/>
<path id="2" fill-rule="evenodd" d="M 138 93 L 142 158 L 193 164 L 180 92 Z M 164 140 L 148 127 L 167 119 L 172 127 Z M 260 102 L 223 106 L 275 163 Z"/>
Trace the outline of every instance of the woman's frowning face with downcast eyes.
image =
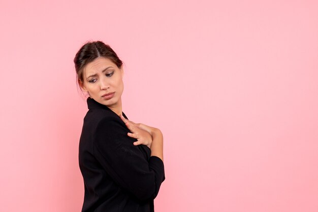
<path id="1" fill-rule="evenodd" d="M 84 67 L 82 89 L 97 102 L 121 110 L 122 78 L 122 68 L 106 57 L 98 57 Z"/>

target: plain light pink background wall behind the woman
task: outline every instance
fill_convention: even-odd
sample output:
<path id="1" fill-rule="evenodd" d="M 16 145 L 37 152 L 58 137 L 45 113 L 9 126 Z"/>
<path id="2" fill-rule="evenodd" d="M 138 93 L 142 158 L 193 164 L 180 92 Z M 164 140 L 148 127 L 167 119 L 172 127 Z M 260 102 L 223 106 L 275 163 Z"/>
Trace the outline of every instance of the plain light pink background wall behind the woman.
<path id="1" fill-rule="evenodd" d="M 257 2 L 257 3 L 256 3 Z M 0 2 L 1 211 L 80 211 L 73 58 L 125 62 L 123 111 L 160 128 L 155 211 L 317 211 L 317 1 Z"/>

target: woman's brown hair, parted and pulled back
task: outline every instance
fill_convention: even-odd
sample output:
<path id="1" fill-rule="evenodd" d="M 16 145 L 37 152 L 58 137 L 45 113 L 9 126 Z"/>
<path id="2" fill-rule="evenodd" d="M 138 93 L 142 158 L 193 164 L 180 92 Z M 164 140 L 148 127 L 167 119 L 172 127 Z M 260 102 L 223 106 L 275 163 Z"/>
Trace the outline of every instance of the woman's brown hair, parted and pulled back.
<path id="1" fill-rule="evenodd" d="M 85 65 L 98 57 L 106 57 L 110 59 L 117 65 L 118 68 L 121 68 L 122 66 L 122 61 L 109 45 L 106 45 L 101 41 L 87 42 L 80 48 L 80 50 L 78 50 L 74 58 L 77 83 L 80 87 L 84 82 L 83 69 Z"/>

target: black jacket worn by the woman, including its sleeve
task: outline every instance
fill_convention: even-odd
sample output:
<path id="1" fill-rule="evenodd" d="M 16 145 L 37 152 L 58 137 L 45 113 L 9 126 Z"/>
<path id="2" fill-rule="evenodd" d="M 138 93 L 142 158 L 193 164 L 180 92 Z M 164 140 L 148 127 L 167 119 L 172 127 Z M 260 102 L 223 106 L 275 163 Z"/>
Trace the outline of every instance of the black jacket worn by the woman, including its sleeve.
<path id="1" fill-rule="evenodd" d="M 147 146 L 134 146 L 120 117 L 87 98 L 79 143 L 84 179 L 82 211 L 153 211 L 153 199 L 165 180 L 163 161 Z M 123 116 L 127 117 L 122 113 Z"/>

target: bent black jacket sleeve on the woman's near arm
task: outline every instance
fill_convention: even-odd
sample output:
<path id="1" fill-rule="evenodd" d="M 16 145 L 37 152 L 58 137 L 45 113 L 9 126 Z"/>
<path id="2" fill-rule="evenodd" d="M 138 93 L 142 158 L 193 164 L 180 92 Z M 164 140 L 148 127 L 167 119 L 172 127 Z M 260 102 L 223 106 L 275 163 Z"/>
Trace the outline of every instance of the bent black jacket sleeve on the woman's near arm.
<path id="1" fill-rule="evenodd" d="M 103 118 L 94 132 L 94 155 L 122 189 L 141 201 L 154 199 L 165 180 L 164 163 L 156 156 L 146 160 L 127 132 L 120 119 Z"/>

